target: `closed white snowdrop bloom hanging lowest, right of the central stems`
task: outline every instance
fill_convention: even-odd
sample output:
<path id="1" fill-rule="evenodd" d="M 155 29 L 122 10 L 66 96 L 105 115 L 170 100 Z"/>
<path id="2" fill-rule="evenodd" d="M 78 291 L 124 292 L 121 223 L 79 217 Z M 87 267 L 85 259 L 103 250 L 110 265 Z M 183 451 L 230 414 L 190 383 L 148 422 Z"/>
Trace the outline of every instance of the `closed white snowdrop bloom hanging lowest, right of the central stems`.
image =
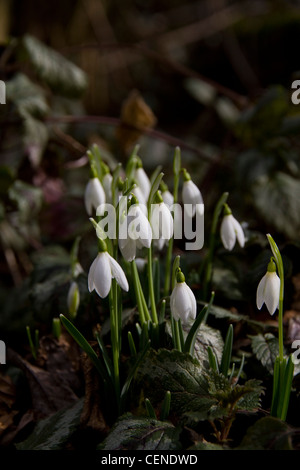
<path id="1" fill-rule="evenodd" d="M 176 321 L 180 319 L 183 324 L 188 324 L 190 320 L 196 318 L 196 298 L 192 289 L 186 284 L 181 270 L 177 273 L 176 281 L 170 297 L 171 313 Z"/>

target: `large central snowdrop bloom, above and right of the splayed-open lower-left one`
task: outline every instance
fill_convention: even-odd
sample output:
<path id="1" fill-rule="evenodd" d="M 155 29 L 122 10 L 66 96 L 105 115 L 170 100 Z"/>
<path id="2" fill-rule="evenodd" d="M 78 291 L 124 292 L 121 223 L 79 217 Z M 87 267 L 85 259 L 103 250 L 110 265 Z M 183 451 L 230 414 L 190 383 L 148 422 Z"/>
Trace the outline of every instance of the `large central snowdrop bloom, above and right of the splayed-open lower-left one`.
<path id="1" fill-rule="evenodd" d="M 135 203 L 134 198 L 128 214 L 124 216 L 121 214 L 118 240 L 120 251 L 126 261 L 133 261 L 137 250 L 143 247 L 150 248 L 151 242 L 151 225 L 140 205 Z"/>

